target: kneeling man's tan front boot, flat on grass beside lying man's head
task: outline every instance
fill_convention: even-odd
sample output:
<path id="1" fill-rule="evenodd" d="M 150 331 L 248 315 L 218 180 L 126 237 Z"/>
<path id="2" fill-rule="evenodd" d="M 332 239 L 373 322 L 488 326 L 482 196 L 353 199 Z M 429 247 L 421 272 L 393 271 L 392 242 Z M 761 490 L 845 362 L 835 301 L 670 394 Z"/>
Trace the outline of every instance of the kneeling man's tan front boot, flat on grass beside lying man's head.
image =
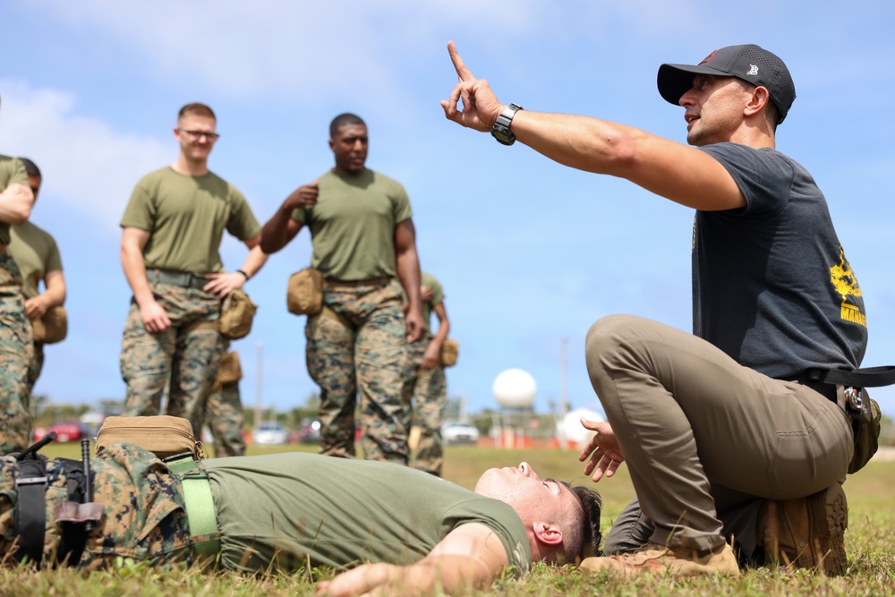
<path id="1" fill-rule="evenodd" d="M 739 576 L 737 557 L 725 543 L 722 548 L 699 555 L 683 547 L 666 548 L 658 543 L 647 543 L 633 553 L 622 553 L 605 558 L 585 558 L 582 570 L 612 570 L 622 576 L 644 573 L 669 576 L 728 575 Z"/>

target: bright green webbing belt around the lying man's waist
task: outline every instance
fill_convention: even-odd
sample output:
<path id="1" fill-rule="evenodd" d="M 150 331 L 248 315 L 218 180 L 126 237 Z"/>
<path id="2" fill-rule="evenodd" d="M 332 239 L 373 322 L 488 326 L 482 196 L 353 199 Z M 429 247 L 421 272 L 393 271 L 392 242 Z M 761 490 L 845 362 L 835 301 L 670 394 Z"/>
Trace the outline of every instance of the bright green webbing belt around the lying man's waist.
<path id="1" fill-rule="evenodd" d="M 214 535 L 217 533 L 215 502 L 211 497 L 209 475 L 192 457 L 179 458 L 167 463 L 172 473 L 182 474 L 183 505 L 190 523 L 190 535 Z M 216 559 L 220 541 L 212 538 L 192 544 L 193 554 L 203 559 Z"/>

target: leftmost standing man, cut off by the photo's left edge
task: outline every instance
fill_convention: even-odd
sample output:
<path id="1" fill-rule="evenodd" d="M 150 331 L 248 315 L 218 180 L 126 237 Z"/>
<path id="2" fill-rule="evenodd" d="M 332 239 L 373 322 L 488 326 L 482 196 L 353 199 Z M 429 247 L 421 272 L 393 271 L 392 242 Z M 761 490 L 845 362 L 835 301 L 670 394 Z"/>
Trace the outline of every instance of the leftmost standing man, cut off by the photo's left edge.
<path id="1" fill-rule="evenodd" d="M 21 297 L 21 272 L 7 250 L 10 224 L 28 219 L 34 205 L 21 160 L 0 156 L 0 189 L 0 454 L 9 454 L 28 446 L 31 428 L 25 408 L 31 327 Z"/>

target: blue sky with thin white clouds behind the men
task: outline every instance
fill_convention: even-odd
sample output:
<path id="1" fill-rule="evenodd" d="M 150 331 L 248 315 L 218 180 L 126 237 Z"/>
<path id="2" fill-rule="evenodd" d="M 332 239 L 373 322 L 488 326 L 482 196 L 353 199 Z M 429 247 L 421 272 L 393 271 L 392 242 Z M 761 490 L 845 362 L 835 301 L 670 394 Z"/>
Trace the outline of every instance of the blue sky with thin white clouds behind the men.
<path id="1" fill-rule="evenodd" d="M 561 396 L 565 339 L 568 402 L 600 410 L 584 370 L 594 320 L 623 312 L 690 329 L 693 212 L 448 122 L 439 107 L 456 81 L 448 39 L 505 103 L 676 141 L 686 137 L 683 110 L 656 91 L 659 64 L 693 64 L 739 43 L 780 55 L 797 100 L 778 149 L 827 196 L 865 294 L 865 366 L 895 363 L 895 5 L 769 10 L 707 0 L 7 0 L 0 153 L 43 170 L 32 220 L 55 235 L 69 285 L 70 336 L 47 347 L 35 391 L 57 403 L 124 395 L 118 354 L 130 291 L 118 221 L 134 183 L 175 160 L 177 110 L 202 101 L 222 134 L 209 166 L 245 193 L 262 223 L 332 165 L 332 117 L 361 115 L 368 166 L 404 183 L 422 268 L 447 294 L 460 343 L 450 394 L 472 411 L 495 407 L 493 380 L 520 368 L 545 411 Z M 234 344 L 248 407 L 260 395 L 286 410 L 316 389 L 304 319 L 285 303 L 286 278 L 310 253 L 303 231 L 246 286 L 260 303 L 251 335 Z M 244 247 L 228 239 L 222 255 L 235 269 Z M 895 389 L 873 395 L 895 415 Z"/>

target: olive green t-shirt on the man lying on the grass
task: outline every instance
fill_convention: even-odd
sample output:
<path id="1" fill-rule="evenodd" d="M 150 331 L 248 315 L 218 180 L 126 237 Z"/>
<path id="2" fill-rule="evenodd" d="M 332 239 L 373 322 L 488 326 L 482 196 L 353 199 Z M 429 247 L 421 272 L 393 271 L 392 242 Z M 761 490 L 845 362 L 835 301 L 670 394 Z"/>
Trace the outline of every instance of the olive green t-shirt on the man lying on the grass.
<path id="1" fill-rule="evenodd" d="M 532 555 L 522 519 L 429 473 L 373 460 L 300 452 L 205 461 L 221 533 L 221 564 L 247 571 L 408 565 L 459 525 L 488 526 L 516 574 Z"/>

